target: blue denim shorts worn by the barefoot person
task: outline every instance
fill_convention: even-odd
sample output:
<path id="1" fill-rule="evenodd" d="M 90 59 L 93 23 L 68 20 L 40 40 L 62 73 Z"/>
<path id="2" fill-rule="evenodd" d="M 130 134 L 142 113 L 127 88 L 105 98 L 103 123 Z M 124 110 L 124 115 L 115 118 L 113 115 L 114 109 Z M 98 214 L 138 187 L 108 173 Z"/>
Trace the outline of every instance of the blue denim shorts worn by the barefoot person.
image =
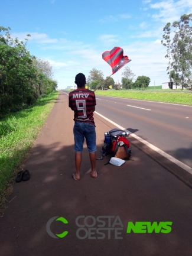
<path id="1" fill-rule="evenodd" d="M 95 125 L 87 122 L 74 122 L 74 151 L 82 152 L 84 138 L 86 138 L 89 153 L 97 151 Z"/>

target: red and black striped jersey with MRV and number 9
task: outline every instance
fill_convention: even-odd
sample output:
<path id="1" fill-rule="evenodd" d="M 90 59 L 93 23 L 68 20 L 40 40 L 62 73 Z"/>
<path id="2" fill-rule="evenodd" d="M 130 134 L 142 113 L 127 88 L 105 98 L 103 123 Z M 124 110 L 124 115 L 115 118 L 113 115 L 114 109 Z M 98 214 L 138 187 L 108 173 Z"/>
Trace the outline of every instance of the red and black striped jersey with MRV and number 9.
<path id="1" fill-rule="evenodd" d="M 96 105 L 92 90 L 78 88 L 69 93 L 69 107 L 74 111 L 74 121 L 94 124 L 93 106 Z"/>

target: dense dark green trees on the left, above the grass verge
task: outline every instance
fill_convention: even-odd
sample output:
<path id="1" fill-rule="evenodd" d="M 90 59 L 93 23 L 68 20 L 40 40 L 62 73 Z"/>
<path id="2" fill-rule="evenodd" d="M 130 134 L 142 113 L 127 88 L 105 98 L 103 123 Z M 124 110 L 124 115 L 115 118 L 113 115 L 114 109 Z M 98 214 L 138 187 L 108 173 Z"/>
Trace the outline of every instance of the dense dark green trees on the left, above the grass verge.
<path id="1" fill-rule="evenodd" d="M 57 88 L 50 63 L 27 50 L 27 41 L 11 38 L 11 28 L 0 26 L 0 117 L 20 111 L 44 93 Z"/>

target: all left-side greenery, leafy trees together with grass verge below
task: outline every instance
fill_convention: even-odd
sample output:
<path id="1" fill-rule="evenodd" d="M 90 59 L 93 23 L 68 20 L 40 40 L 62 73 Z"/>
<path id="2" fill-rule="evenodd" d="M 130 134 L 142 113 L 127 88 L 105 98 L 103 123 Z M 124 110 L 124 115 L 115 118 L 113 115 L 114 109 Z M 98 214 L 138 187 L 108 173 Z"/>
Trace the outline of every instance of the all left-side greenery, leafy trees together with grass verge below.
<path id="1" fill-rule="evenodd" d="M 58 96 L 53 69 L 0 26 L 0 212 Z"/>

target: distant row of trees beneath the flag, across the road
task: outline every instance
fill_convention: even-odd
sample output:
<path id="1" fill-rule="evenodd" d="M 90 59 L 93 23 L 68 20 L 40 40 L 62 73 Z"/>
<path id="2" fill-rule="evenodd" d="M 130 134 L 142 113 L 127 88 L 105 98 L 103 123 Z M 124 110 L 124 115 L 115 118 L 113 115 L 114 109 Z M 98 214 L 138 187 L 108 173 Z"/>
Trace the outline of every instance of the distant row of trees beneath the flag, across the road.
<path id="1" fill-rule="evenodd" d="M 97 70 L 95 67 L 93 67 L 92 70 L 89 72 L 89 76 L 87 77 L 87 86 L 90 89 L 96 89 L 101 83 L 103 85 L 101 86 L 102 90 L 106 89 L 140 89 L 140 88 L 146 88 L 149 86 L 150 78 L 148 76 L 138 76 L 135 82 L 133 82 L 135 77 L 135 74 L 131 71 L 129 67 L 125 67 L 124 72 L 122 72 L 122 79 L 121 83 L 115 83 L 112 77 L 108 78 L 106 77 L 106 82 L 104 82 L 104 75 L 101 70 Z"/>

